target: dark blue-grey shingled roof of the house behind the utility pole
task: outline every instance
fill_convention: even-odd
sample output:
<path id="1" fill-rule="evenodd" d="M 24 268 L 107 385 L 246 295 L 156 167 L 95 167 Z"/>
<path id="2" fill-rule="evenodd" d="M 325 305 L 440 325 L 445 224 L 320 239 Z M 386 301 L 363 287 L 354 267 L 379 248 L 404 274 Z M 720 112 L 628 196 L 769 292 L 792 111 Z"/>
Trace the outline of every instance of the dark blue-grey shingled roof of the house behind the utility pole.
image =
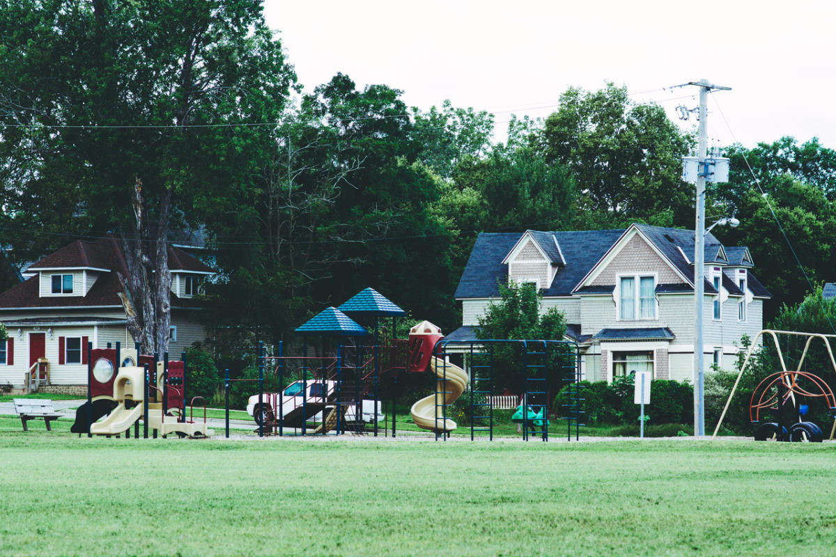
<path id="1" fill-rule="evenodd" d="M 670 266 L 680 276 L 686 278 L 687 285 L 658 285 L 657 293 L 689 292 L 693 291 L 694 277 L 694 231 L 666 228 L 651 225 L 632 225 L 644 235 L 645 239 L 655 247 L 660 256 L 670 263 Z M 630 230 L 630 229 L 627 229 Z M 585 276 L 593 270 L 604 255 L 614 246 L 616 241 L 627 230 L 575 230 L 540 233 L 552 235 L 560 246 L 566 265 L 558 268 L 552 284 L 543 289 L 543 296 L 573 296 L 575 294 L 605 294 L 612 292 L 612 286 L 581 286 L 575 290 Z M 499 296 L 498 283 L 507 282 L 507 264 L 502 261 L 510 254 L 514 246 L 521 241 L 525 233 L 482 233 L 477 237 L 461 280 L 456 288 L 456 299 L 466 298 L 494 298 Z M 537 234 L 535 232 L 535 234 Z M 537 236 L 541 240 L 543 235 Z M 538 243 L 539 245 L 539 243 Z M 734 256 L 729 255 L 732 250 Z M 706 235 L 706 262 L 716 262 L 716 257 L 724 256 L 729 265 L 734 265 L 740 248 L 725 248 L 721 242 L 711 235 Z M 743 248 L 744 250 L 746 248 Z M 724 265 L 725 261 L 722 262 Z M 747 273 L 747 285 L 756 297 L 772 297 L 760 282 Z M 729 281 L 726 290 L 736 295 L 739 289 Z M 716 293 L 714 287 L 706 281 L 706 293 Z M 724 281 L 723 286 L 726 286 Z"/>

